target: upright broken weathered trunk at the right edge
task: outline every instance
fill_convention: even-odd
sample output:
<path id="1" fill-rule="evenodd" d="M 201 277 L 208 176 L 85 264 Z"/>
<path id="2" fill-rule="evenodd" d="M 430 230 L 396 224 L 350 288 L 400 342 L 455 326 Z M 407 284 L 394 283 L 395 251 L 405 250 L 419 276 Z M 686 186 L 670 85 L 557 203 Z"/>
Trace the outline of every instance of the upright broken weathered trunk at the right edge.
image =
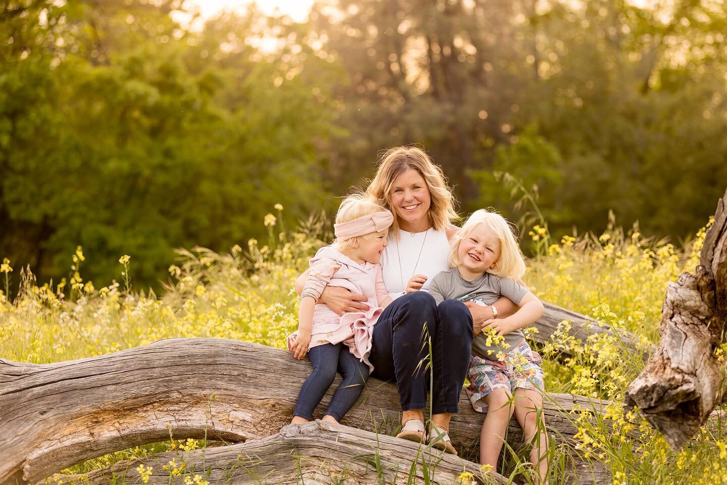
<path id="1" fill-rule="evenodd" d="M 723 362 L 715 346 L 727 321 L 727 192 L 719 200 L 696 274 L 683 273 L 664 298 L 661 343 L 628 388 L 626 407 L 637 406 L 678 449 L 725 399 Z"/>

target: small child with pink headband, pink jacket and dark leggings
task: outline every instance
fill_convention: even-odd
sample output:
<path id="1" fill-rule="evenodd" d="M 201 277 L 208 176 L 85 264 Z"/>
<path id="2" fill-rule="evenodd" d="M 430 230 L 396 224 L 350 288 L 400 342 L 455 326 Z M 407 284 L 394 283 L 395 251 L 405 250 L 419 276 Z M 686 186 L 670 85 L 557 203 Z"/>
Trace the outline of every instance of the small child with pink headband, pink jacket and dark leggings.
<path id="1" fill-rule="evenodd" d="M 363 195 L 346 197 L 338 208 L 336 240 L 310 260 L 310 274 L 301 294 L 298 330 L 288 338 L 296 359 L 310 356 L 313 372 L 303 383 L 291 423 L 305 423 L 333 383 L 343 380 L 324 420 L 338 423 L 356 402 L 369 372 L 371 333 L 379 314 L 391 303 L 381 276 L 381 253 L 393 215 Z M 337 313 L 316 304 L 326 285 L 347 288 L 368 298 L 367 311 Z"/>

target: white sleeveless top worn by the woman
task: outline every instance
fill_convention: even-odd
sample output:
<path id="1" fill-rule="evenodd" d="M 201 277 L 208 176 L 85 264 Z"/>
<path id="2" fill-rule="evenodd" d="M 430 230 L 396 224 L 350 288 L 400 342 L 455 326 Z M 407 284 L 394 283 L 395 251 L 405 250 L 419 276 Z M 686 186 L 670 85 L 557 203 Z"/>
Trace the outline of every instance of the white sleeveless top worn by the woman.
<path id="1" fill-rule="evenodd" d="M 422 290 L 427 291 L 436 274 L 449 269 L 449 241 L 444 230 L 430 228 L 423 232 L 406 232 L 399 229 L 398 239 L 390 231 L 386 242 L 381 273 L 391 298 L 403 295 L 406 283 L 414 274 L 427 277 L 422 286 Z"/>

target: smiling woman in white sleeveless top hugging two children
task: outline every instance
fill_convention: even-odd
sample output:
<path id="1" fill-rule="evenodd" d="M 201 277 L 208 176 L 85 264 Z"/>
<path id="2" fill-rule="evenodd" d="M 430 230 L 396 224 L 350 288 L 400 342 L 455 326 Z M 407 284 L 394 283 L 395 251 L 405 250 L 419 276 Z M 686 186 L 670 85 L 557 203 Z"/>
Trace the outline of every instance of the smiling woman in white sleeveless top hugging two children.
<path id="1" fill-rule="evenodd" d="M 384 284 L 394 301 L 374 325 L 371 375 L 397 383 L 403 410 L 402 431 L 397 436 L 424 441 L 430 377 L 422 360 L 429 355 L 424 345 L 424 335 L 428 335 L 433 382 L 429 441 L 433 447 L 456 455 L 449 439 L 449 420 L 452 413 L 459 412 L 459 393 L 470 363 L 473 335 L 494 317 L 493 310 L 454 300 L 437 306 L 426 292 L 435 274 L 449 269 L 449 239 L 458 228 L 451 224 L 457 219 L 451 189 L 441 168 L 423 150 L 388 150 L 366 192 L 394 215 L 382 257 Z M 296 282 L 299 294 L 307 273 Z M 366 310 L 361 303 L 365 299 L 343 288 L 326 287 L 320 301 L 343 314 Z M 499 316 L 517 309 L 507 298 L 500 298 L 495 306 Z"/>

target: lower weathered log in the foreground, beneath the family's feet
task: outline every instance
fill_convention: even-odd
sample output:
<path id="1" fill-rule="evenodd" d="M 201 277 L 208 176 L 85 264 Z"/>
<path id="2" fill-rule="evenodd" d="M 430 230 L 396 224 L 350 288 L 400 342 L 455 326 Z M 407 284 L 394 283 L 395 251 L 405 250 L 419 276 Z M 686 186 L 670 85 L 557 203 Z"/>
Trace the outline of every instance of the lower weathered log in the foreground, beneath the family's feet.
<path id="1" fill-rule="evenodd" d="M 416 480 L 412 483 L 422 484 L 425 470 L 431 484 L 457 484 L 462 472 L 472 473 L 484 484 L 507 483 L 499 473 L 481 475 L 479 465 L 454 455 L 325 421 L 286 425 L 273 436 L 247 443 L 125 460 L 89 473 L 87 479 L 63 476 L 63 480 L 105 485 L 116 477 L 117 483 L 139 483 L 137 467 L 144 465 L 153 470 L 148 477 L 150 485 L 168 485 L 169 472 L 160 464 L 170 460 L 185 463 L 182 476 L 197 473 L 212 484 L 330 485 L 337 480 L 378 485 L 382 483 L 381 478 L 386 484 L 406 484 L 410 474 Z M 205 475 L 206 470 L 210 470 L 209 476 Z"/>

